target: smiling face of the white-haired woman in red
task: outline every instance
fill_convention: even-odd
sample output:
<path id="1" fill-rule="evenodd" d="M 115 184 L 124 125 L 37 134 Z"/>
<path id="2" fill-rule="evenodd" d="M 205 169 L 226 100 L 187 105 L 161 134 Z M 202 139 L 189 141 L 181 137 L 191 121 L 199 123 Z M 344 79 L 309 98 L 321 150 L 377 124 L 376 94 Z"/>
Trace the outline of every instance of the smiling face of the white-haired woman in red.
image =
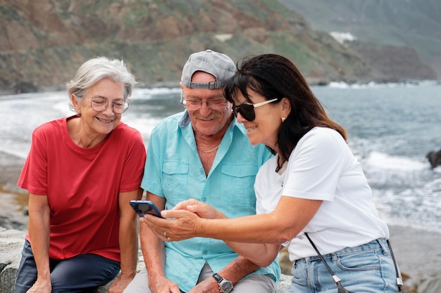
<path id="1" fill-rule="evenodd" d="M 107 108 L 101 112 L 93 110 L 89 100 L 94 98 L 108 100 Z M 118 126 L 122 116 L 113 112 L 112 103 L 121 99 L 124 99 L 124 84 L 114 82 L 112 79 L 101 79 L 87 91 L 79 103 L 72 97 L 75 110 L 81 115 L 82 135 L 89 137 L 108 136 Z"/>

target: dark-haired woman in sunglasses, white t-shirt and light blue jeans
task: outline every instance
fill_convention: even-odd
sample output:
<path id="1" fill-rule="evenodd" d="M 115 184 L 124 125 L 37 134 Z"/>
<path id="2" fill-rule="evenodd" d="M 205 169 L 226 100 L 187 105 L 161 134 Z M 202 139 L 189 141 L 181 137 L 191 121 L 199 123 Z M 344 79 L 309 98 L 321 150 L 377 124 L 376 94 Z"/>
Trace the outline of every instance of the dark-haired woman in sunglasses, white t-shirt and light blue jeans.
<path id="1" fill-rule="evenodd" d="M 260 266 L 285 246 L 294 262 L 287 292 L 335 292 L 335 283 L 338 292 L 397 292 L 389 230 L 366 176 L 297 67 L 275 54 L 249 58 L 224 90 L 251 144 L 275 154 L 256 176 L 257 215 L 225 219 L 187 200 L 162 212 L 174 220 L 143 223 L 170 241 L 224 240 Z"/>

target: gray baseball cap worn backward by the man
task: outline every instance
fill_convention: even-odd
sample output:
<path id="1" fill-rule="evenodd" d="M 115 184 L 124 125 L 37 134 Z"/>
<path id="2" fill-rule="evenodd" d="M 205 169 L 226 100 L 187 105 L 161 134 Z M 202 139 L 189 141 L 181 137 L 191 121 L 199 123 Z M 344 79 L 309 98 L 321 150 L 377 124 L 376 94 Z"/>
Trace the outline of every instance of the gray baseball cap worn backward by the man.
<path id="1" fill-rule="evenodd" d="M 216 82 L 192 82 L 194 72 L 203 71 L 216 77 Z M 223 53 L 212 50 L 192 53 L 182 69 L 180 81 L 184 86 L 197 89 L 221 89 L 223 83 L 235 74 L 235 63 Z"/>

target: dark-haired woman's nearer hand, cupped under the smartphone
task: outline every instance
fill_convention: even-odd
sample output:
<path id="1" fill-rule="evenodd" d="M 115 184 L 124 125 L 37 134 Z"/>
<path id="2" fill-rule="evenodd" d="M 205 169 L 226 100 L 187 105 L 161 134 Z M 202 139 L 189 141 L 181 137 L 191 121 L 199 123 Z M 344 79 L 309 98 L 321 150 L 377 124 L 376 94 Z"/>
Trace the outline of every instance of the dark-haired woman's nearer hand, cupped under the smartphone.
<path id="1" fill-rule="evenodd" d="M 159 239 L 166 242 L 201 236 L 201 224 L 206 221 L 183 209 L 163 210 L 161 216 L 167 219 L 145 214 L 140 221 L 149 226 Z"/>

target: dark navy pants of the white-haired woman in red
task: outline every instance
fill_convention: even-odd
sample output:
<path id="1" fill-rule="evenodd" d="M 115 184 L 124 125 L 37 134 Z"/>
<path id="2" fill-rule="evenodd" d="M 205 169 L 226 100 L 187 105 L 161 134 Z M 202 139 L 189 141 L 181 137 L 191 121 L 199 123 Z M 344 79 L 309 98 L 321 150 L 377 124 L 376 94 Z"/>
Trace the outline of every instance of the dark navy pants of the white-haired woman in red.
<path id="1" fill-rule="evenodd" d="M 70 259 L 49 259 L 53 293 L 91 292 L 106 285 L 120 271 L 120 263 L 97 254 L 80 254 Z M 15 293 L 25 293 L 37 280 L 37 266 L 29 241 L 25 241 L 15 282 Z"/>

